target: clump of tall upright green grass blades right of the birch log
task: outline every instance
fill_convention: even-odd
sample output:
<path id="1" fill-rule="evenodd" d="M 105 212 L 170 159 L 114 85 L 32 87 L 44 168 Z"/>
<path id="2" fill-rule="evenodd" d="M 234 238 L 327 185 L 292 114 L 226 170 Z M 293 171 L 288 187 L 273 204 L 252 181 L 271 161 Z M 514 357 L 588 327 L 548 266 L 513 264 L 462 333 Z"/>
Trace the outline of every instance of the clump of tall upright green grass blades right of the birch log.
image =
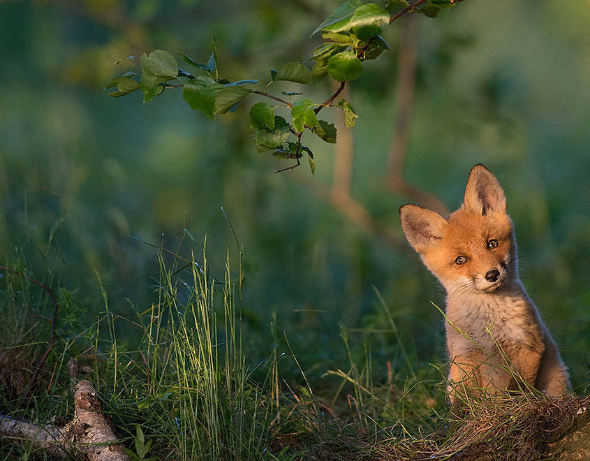
<path id="1" fill-rule="evenodd" d="M 141 356 L 151 397 L 143 406 L 152 407 L 152 418 L 170 416 L 165 438 L 179 459 L 263 458 L 272 402 L 265 394 L 267 383 L 254 383 L 253 370 L 246 366 L 240 288 L 232 282 L 229 256 L 223 280 L 209 273 L 205 251 L 202 262 L 192 254 L 168 268 L 161 252 L 158 261 L 158 302 L 144 325 Z M 156 402 L 163 413 L 153 408 Z"/>

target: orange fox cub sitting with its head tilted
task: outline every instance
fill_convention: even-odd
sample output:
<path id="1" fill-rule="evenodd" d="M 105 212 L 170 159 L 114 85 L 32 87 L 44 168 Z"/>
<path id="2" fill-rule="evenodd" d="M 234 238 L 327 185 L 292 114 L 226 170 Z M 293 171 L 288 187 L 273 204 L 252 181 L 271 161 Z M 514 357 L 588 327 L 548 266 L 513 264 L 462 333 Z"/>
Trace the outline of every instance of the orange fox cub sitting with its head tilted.
<path id="1" fill-rule="evenodd" d="M 568 390 L 557 346 L 518 278 L 514 229 L 496 177 L 475 165 L 463 205 L 448 217 L 412 204 L 399 214 L 408 242 L 447 291 L 450 402 L 463 388 L 507 390 L 521 379 L 547 395 Z"/>

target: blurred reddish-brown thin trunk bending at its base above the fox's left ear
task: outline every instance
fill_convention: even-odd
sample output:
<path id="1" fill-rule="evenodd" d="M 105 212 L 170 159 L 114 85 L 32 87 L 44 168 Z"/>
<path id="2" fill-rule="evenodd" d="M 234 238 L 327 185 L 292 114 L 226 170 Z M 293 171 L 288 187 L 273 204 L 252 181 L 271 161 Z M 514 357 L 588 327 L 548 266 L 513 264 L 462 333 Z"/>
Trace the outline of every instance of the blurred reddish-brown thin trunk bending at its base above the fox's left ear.
<path id="1" fill-rule="evenodd" d="M 418 54 L 416 37 L 417 24 L 414 17 L 406 17 L 401 28 L 399 43 L 399 71 L 395 94 L 396 113 L 394 117 L 393 137 L 388 153 L 387 186 L 394 192 L 407 196 L 432 210 L 448 214 L 448 208 L 434 195 L 413 186 L 404 179 L 404 162 L 408 153 L 411 131 L 411 118 L 414 108 L 415 73 Z"/>

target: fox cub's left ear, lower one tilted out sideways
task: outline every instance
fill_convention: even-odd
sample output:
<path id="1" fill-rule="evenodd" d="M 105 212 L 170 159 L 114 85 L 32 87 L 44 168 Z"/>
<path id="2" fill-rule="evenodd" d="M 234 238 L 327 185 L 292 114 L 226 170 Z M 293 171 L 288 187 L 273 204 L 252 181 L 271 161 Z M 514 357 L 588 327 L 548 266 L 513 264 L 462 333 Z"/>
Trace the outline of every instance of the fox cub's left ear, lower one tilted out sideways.
<path id="1" fill-rule="evenodd" d="M 440 242 L 448 225 L 440 214 L 411 203 L 401 205 L 399 217 L 408 242 L 418 253 Z"/>

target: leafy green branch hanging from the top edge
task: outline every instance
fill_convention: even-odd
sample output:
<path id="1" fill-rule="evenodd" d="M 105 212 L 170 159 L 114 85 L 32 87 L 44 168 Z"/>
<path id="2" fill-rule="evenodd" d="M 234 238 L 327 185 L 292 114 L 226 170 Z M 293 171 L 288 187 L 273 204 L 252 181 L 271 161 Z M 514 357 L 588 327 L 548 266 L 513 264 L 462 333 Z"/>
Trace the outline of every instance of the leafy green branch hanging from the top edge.
<path id="1" fill-rule="evenodd" d="M 302 136 L 309 132 L 325 142 L 336 142 L 337 129 L 334 124 L 318 118 L 320 110 L 327 107 L 342 110 L 346 126 L 354 126 L 358 115 L 353 105 L 339 95 L 346 82 L 360 77 L 364 61 L 376 59 L 388 50 L 388 44 L 381 36 L 383 27 L 404 13 L 436 17 L 442 8 L 455 6 L 457 1 L 460 0 L 418 0 L 414 3 L 387 0 L 384 6 L 362 3 L 360 0 L 341 3 L 313 32 L 312 36 L 321 33 L 325 41 L 316 47 L 307 62 L 292 61 L 278 69 L 271 69 L 270 80 L 266 85 L 260 85 L 255 79 L 231 82 L 221 77 L 213 40 L 213 51 L 205 63 L 181 54 L 184 64 L 191 66 L 190 72 L 179 68 L 177 59 L 170 52 L 155 50 L 144 53 L 138 66 L 135 57 L 128 58 L 135 62 L 137 68 L 113 78 L 106 88 L 117 87 L 116 91 L 109 93 L 113 97 L 125 96 L 140 89 L 145 103 L 160 96 L 166 89 L 182 88 L 184 101 L 211 119 L 216 115 L 234 112 L 248 96 L 270 98 L 272 103 L 255 103 L 249 111 L 258 151 L 270 152 L 277 159 L 294 159 L 297 162 L 277 173 L 300 166 L 300 159 L 307 154 L 309 168 L 314 173 L 314 153 L 302 144 Z M 308 85 L 326 75 L 338 86 L 322 102 L 305 97 L 299 91 L 300 87 L 297 87 L 297 91 L 283 91 L 280 96 L 270 93 L 270 87 L 275 82 Z M 279 109 L 283 115 L 276 113 Z"/>

